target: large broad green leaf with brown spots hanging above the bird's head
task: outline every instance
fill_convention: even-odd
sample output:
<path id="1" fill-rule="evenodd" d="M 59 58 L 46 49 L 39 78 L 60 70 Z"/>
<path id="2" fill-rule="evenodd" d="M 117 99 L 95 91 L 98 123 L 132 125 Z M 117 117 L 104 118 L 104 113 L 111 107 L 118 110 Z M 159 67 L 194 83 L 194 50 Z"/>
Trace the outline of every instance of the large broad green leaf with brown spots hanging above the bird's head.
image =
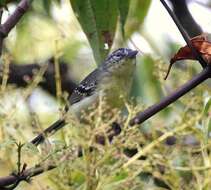
<path id="1" fill-rule="evenodd" d="M 70 0 L 97 64 L 107 56 L 116 30 L 118 0 Z M 105 44 L 108 49 L 105 49 Z"/>

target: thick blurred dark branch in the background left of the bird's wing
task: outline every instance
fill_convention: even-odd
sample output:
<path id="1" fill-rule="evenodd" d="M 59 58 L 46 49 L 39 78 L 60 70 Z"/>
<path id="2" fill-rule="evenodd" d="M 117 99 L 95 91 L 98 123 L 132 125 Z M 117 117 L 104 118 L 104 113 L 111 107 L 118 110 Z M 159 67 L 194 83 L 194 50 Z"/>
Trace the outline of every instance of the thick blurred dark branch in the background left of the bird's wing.
<path id="1" fill-rule="evenodd" d="M 48 60 L 49 64 L 44 73 L 43 80 L 38 84 L 43 90 L 49 92 L 51 95 L 56 96 L 56 83 L 55 83 L 55 67 L 54 60 Z M 34 71 L 39 70 L 41 65 L 39 64 L 27 64 L 18 65 L 15 63 L 9 64 L 9 84 L 15 84 L 18 87 L 26 87 L 28 80 L 34 76 Z M 0 65 L 0 71 L 3 71 L 3 65 Z M 68 92 L 70 95 L 73 89 L 76 87 L 76 83 L 70 77 L 70 68 L 67 63 L 60 61 L 59 71 L 61 75 L 61 87 L 63 92 Z M 2 76 L 0 76 L 0 82 L 2 82 Z"/>

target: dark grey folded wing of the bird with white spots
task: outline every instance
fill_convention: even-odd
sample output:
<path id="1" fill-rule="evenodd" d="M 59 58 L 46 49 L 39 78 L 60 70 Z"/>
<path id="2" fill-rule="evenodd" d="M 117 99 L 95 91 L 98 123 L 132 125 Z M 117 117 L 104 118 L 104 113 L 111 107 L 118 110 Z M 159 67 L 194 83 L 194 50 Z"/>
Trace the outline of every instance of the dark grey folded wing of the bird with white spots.
<path id="1" fill-rule="evenodd" d="M 95 69 L 75 88 L 70 96 L 70 104 L 75 104 L 84 98 L 91 96 L 97 88 L 99 81 L 99 69 Z"/>

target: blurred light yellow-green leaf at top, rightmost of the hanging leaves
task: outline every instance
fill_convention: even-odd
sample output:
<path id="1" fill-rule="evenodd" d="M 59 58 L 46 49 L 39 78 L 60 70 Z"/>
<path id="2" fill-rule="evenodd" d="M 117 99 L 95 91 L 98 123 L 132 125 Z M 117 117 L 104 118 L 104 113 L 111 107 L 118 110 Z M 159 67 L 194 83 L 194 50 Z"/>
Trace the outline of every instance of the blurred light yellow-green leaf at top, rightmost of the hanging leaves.
<path id="1" fill-rule="evenodd" d="M 138 31 L 150 7 L 151 0 L 132 0 L 126 22 L 126 37 Z"/>

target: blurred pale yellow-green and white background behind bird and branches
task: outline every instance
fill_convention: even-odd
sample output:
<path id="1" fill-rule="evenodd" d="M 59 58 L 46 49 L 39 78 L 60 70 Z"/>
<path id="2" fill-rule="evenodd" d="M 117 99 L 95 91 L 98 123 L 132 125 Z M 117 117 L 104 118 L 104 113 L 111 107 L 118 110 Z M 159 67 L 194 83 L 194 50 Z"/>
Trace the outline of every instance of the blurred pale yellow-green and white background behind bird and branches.
<path id="1" fill-rule="evenodd" d="M 74 3 L 74 0 L 72 2 Z M 137 2 L 142 6 L 134 6 Z M 172 7 L 170 2 L 169 5 Z M 187 1 L 187 5 L 193 19 L 198 23 L 202 31 L 210 33 L 211 20 L 209 18 L 211 14 L 211 1 L 189 0 Z M 3 21 L 14 11 L 16 6 L 16 2 L 11 2 L 7 5 L 7 11 L 4 11 L 2 18 Z M 108 16 L 104 20 L 110 22 L 110 19 Z M 166 81 L 163 79 L 170 58 L 181 46 L 185 45 L 185 41 L 160 1 L 131 0 L 127 19 L 125 24 L 126 37 L 122 37 L 121 21 L 119 21 L 115 29 L 114 43 L 110 51 L 122 46 L 139 51 L 134 84 L 131 90 L 131 99 L 133 99 L 140 109 L 144 109 L 158 102 L 164 96 L 181 86 L 185 81 L 200 72 L 201 67 L 196 61 L 179 62 L 173 66 L 169 78 Z M 105 44 L 105 49 L 108 49 L 108 44 Z M 6 38 L 3 57 L 4 59 L 1 60 L 1 64 L 5 64 L 9 60 L 18 65 L 32 63 L 42 65 L 52 57 L 59 58 L 59 60 L 69 65 L 69 75 L 77 83 L 97 67 L 97 59 L 93 54 L 93 49 L 69 0 L 34 1 L 30 11 L 24 15 L 23 19 L 11 31 L 8 38 Z M 148 132 L 158 129 L 165 133 L 168 130 L 174 129 L 175 125 L 178 127 L 190 121 L 190 118 L 195 119 L 201 115 L 209 100 L 210 84 L 207 81 L 157 116 L 145 122 L 142 125 L 142 130 L 144 129 Z M 40 87 L 27 91 L 25 88 L 14 87 L 14 85 L 11 87 L 8 85 L 6 86 L 6 90 L 1 91 L 1 175 L 8 174 L 16 167 L 16 152 L 14 150 L 13 140 L 27 142 L 32 139 L 35 131 L 46 128 L 59 118 L 62 107 L 63 104 L 59 101 L 58 97 L 52 96 Z M 203 147 L 207 145 L 206 143 L 208 143 L 209 138 L 206 140 L 206 143 L 203 138 L 199 138 L 200 135 L 203 136 L 204 131 L 209 136 L 209 130 L 207 132 L 207 128 L 209 129 L 210 127 L 209 109 L 206 114 L 207 117 L 200 118 L 200 121 L 197 120 L 191 124 L 193 127 L 192 130 L 182 134 L 182 138 L 179 140 L 181 144 L 176 145 L 175 151 L 172 150 L 172 152 L 169 152 L 172 159 L 169 158 L 170 161 L 178 164 L 178 166 L 183 166 L 184 163 L 190 161 L 189 159 L 192 159 L 192 155 L 189 154 L 192 146 L 199 145 L 200 147 L 203 143 Z M 39 130 L 33 129 L 32 121 L 35 122 Z M 198 131 L 201 131 L 200 135 Z M 61 140 L 61 136 L 61 134 L 60 136 L 58 135 L 57 139 Z M 181 150 L 180 148 L 185 145 L 189 146 L 190 149 Z M 29 149 L 36 154 L 37 150 L 34 150 L 32 147 Z M 183 152 L 184 154 L 182 154 L 182 151 L 185 153 Z M 168 151 L 165 153 L 168 153 Z M 30 154 L 32 153 L 30 152 Z M 159 153 L 157 154 L 159 155 Z M 201 154 L 205 153 L 203 152 Z M 175 157 L 174 160 L 173 157 Z M 207 160 L 203 161 L 203 158 Z M 29 165 L 30 163 L 34 163 L 32 159 L 27 158 L 27 160 Z M 201 156 L 200 161 L 197 159 L 196 162 L 210 163 L 210 156 Z M 194 165 L 194 163 L 193 161 L 192 164 Z M 152 168 L 151 170 L 153 171 Z M 169 180 L 167 183 L 171 184 L 173 189 L 181 189 L 183 187 L 182 185 L 178 185 L 183 178 L 185 180 L 192 180 L 192 182 L 188 183 L 187 187 L 194 187 L 196 189 L 200 187 L 200 180 L 202 180 L 201 178 L 204 173 L 192 174 L 194 173 L 192 171 L 190 172 L 191 174 L 184 173 L 185 171 L 182 174 L 173 173 L 169 179 L 165 178 L 165 180 Z M 210 172 L 208 174 L 206 173 L 206 175 L 209 176 Z M 35 182 L 32 185 L 23 184 L 17 189 L 84 189 L 81 186 L 77 186 L 76 188 L 76 186 L 73 187 L 71 185 L 71 188 L 68 185 L 56 187 L 55 184 L 58 182 L 52 176 L 45 176 L 46 179 L 50 179 L 51 183 L 49 184 L 51 185 L 44 184 L 43 176 L 39 176 L 34 179 Z M 80 178 L 80 175 L 78 174 L 77 177 Z M 124 176 L 121 177 L 124 178 Z M 173 183 L 173 178 L 176 179 L 176 184 Z M 194 186 L 192 183 L 195 179 L 198 182 Z M 83 179 L 78 179 L 78 183 L 83 184 L 82 181 Z M 208 184 L 207 182 L 206 185 Z M 147 185 L 143 187 L 148 189 L 157 188 L 151 182 L 147 182 Z M 206 185 L 204 187 L 208 188 Z M 109 189 L 109 187 L 106 186 L 102 189 Z M 124 189 L 123 187 L 120 188 L 120 186 L 115 186 L 115 188 Z"/>

